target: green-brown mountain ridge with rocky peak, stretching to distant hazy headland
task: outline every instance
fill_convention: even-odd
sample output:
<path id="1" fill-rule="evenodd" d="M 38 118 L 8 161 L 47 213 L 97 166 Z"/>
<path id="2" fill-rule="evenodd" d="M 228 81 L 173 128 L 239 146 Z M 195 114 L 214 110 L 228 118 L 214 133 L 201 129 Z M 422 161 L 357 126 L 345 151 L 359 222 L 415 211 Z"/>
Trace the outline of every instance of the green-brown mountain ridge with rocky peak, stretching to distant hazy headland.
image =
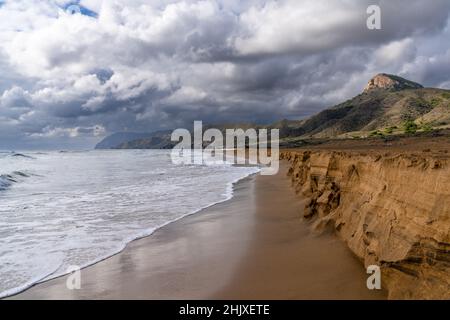
<path id="1" fill-rule="evenodd" d="M 405 123 L 410 123 L 418 131 L 449 128 L 450 90 L 425 88 L 417 82 L 380 73 L 369 80 L 362 93 L 306 119 L 284 119 L 268 126 L 245 124 L 241 127 L 279 129 L 283 144 L 291 139 L 366 138 L 398 134 L 403 132 Z M 218 127 L 225 130 L 238 128 L 239 124 Z M 102 141 L 96 148 L 102 149 L 102 146 L 108 145 L 113 149 L 167 149 L 174 145 L 169 132 L 150 133 L 114 146 Z"/>

